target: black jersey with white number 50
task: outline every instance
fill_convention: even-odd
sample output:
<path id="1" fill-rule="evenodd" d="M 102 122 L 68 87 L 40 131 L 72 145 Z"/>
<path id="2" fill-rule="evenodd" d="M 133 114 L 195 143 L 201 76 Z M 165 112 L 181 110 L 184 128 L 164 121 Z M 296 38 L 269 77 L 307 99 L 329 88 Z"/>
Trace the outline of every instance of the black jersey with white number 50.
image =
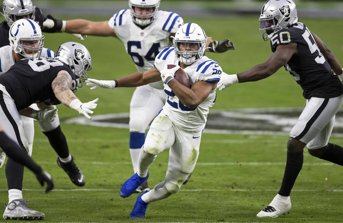
<path id="1" fill-rule="evenodd" d="M 284 67 L 304 90 L 306 99 L 334 98 L 343 94 L 342 83 L 331 71 L 330 64 L 303 23 L 297 22 L 276 32 L 270 39 L 272 52 L 278 45 L 289 42 L 297 43 L 298 54 L 293 55 Z"/>

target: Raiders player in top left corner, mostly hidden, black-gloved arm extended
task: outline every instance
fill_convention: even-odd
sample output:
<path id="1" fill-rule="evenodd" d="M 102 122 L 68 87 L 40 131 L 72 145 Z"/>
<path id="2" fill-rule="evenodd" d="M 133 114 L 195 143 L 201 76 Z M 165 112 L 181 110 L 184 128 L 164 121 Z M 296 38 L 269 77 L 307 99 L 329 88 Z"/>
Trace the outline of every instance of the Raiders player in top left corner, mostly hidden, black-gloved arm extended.
<path id="1" fill-rule="evenodd" d="M 10 44 L 8 40 L 10 27 L 15 21 L 21 18 L 30 18 L 36 21 L 42 28 L 42 31 L 46 33 L 63 31 L 62 20 L 55 19 L 51 15 L 43 15 L 42 11 L 33 5 L 31 0 L 4 0 L 2 3 L 2 11 L 5 21 L 0 24 L 0 47 Z M 80 34 L 72 35 L 83 40 L 83 36 Z"/>

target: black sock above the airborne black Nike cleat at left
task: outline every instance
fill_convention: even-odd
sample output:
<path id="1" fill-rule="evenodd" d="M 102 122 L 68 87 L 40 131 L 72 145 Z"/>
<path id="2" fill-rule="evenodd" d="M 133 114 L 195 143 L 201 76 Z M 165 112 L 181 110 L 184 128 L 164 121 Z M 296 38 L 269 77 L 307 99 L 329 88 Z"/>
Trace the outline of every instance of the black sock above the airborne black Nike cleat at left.
<path id="1" fill-rule="evenodd" d="M 48 137 L 51 147 L 54 148 L 59 157 L 67 158 L 69 156 L 67 139 L 61 131 L 61 126 L 43 133 Z"/>

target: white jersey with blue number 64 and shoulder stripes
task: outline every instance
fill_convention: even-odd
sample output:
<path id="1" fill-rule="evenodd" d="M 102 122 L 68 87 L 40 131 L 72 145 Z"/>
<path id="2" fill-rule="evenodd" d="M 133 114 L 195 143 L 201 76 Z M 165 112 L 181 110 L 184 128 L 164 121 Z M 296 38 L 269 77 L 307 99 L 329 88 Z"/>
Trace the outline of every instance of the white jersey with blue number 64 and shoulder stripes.
<path id="1" fill-rule="evenodd" d="M 141 29 L 133 23 L 129 9 L 120 10 L 108 21 L 117 37 L 123 42 L 126 52 L 131 56 L 137 70 L 144 72 L 154 67 L 155 57 L 162 49 L 171 46 L 169 37 L 184 24 L 184 20 L 174 13 L 158 11 L 155 20 Z M 163 82 L 151 83 L 163 89 Z"/>

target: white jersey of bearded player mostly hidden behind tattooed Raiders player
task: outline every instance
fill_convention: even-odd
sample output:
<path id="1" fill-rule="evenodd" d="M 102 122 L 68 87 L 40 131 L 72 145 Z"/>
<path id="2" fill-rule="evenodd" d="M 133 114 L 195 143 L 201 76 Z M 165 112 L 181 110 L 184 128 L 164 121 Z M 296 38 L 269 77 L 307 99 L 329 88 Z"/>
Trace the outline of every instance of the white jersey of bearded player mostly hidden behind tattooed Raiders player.
<path id="1" fill-rule="evenodd" d="M 47 48 L 43 48 L 40 57 L 55 57 L 56 54 Z M 0 75 L 4 74 L 15 64 L 14 51 L 11 46 L 3 46 L 0 48 Z"/>

